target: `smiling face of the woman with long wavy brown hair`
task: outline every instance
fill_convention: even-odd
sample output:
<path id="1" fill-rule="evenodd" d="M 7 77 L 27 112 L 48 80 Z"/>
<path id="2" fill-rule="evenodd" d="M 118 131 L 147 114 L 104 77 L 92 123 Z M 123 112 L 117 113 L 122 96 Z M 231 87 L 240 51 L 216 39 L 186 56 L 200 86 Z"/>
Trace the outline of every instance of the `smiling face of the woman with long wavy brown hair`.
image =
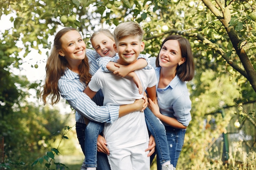
<path id="1" fill-rule="evenodd" d="M 67 62 L 81 62 L 85 58 L 86 45 L 78 31 L 72 30 L 65 33 L 61 37 L 61 42 L 59 55 L 65 57 Z"/>

